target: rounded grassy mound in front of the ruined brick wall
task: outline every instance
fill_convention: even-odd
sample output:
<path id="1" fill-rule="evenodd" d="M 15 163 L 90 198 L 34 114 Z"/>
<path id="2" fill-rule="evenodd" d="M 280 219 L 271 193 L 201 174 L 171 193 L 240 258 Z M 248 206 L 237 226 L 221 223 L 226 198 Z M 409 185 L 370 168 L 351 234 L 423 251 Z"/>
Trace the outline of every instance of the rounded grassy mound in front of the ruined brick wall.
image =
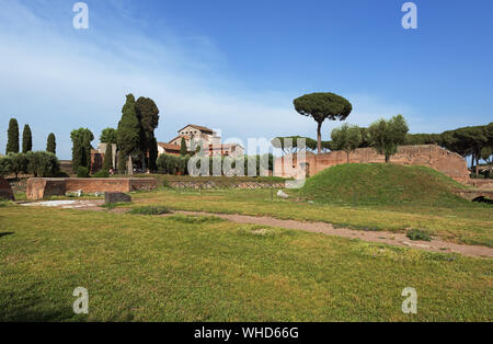
<path id="1" fill-rule="evenodd" d="M 447 206 L 468 203 L 451 193 L 462 187 L 425 167 L 352 163 L 332 167 L 308 179 L 300 196 L 322 204 Z"/>

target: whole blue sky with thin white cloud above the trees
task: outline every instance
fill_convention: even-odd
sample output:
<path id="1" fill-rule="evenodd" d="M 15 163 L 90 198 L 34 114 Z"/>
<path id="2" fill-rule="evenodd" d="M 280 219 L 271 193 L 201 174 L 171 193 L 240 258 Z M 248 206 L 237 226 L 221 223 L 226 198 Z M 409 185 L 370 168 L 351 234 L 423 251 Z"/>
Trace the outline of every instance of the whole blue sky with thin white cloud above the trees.
<path id="1" fill-rule="evenodd" d="M 493 1 L 403 0 L 85 1 L 89 30 L 72 27 L 68 0 L 0 0 L 0 151 L 10 117 L 33 130 L 34 149 L 70 131 L 96 140 L 116 127 L 125 94 L 152 98 L 158 139 L 188 123 L 225 138 L 316 136 L 293 100 L 316 91 L 347 98 L 348 123 L 398 113 L 411 133 L 492 121 Z M 322 135 L 340 123 L 324 123 Z"/>

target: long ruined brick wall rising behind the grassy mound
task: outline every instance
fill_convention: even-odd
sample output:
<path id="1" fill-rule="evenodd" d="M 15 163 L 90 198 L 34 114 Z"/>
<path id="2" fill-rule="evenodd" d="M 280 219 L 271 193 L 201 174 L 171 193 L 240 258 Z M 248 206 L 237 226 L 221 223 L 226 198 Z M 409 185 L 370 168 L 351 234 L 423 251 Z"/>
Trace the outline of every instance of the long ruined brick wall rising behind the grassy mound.
<path id="1" fill-rule="evenodd" d="M 349 154 L 351 163 L 385 163 L 385 156 L 377 153 L 372 148 L 358 148 Z M 307 152 L 307 175 L 313 175 L 330 167 L 346 162 L 347 156 L 344 151 L 331 151 L 323 154 Z M 398 152 L 390 158 L 390 162 L 428 167 L 458 182 L 466 183 L 469 181 L 469 170 L 466 160 L 459 154 L 436 145 L 401 146 Z M 275 159 L 274 175 L 285 177 L 296 176 L 299 175 L 298 173 L 302 168 L 296 161 L 296 157 L 285 156 Z"/>

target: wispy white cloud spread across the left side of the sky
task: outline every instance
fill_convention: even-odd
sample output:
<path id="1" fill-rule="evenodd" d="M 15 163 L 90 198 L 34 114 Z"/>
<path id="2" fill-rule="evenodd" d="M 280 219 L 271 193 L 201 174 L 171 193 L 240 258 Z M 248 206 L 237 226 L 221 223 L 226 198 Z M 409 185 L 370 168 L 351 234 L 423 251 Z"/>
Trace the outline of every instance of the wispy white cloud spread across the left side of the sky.
<path id="1" fill-rule="evenodd" d="M 94 13 L 90 30 L 79 32 L 71 28 L 71 5 L 58 3 L 55 13 L 67 12 L 62 16 L 39 14 L 53 13 L 51 3 L 36 1 L 33 9 L 1 1 L 0 128 L 7 131 L 10 116 L 21 126 L 28 123 L 35 149 L 44 149 L 48 133 L 54 131 L 59 156 L 70 158 L 70 130 L 84 126 L 98 137 L 102 128 L 115 127 L 129 92 L 157 102 L 160 140 L 171 139 L 187 123 L 220 128 L 223 137 L 244 141 L 314 135 L 313 121 L 293 108 L 299 94 L 245 87 L 210 37 L 183 37 L 163 30 L 159 38 L 149 38 L 146 27 L 126 26 L 133 23 L 131 12 L 118 11 L 119 1 L 108 2 L 115 7 L 105 12 L 104 24 L 103 13 Z M 369 95 L 348 99 L 355 105 L 349 122 L 355 124 L 406 111 Z M 333 126 L 325 125 L 326 137 Z M 0 136 L 1 151 L 4 141 Z"/>

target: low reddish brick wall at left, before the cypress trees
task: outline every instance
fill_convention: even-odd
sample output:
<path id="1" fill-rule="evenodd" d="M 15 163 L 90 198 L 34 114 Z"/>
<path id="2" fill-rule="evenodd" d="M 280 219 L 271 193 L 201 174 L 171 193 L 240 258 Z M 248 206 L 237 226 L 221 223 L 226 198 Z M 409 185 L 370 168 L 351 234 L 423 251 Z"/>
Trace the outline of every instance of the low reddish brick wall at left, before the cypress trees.
<path id="1" fill-rule="evenodd" d="M 32 177 L 27 180 L 26 196 L 39 199 L 49 196 L 62 196 L 68 192 L 82 193 L 128 193 L 139 190 L 156 188 L 153 177 L 112 179 L 112 177 Z"/>

